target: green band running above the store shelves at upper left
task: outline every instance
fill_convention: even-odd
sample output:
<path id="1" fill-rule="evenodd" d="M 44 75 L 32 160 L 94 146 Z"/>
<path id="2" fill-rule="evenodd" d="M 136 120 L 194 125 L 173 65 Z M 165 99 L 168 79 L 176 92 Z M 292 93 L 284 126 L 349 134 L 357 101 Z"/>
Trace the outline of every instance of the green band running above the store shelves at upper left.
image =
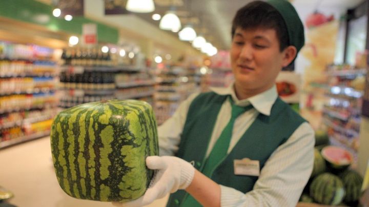
<path id="1" fill-rule="evenodd" d="M 97 25 L 97 39 L 103 43 L 118 43 L 118 29 L 110 27 L 83 16 L 73 16 L 66 21 L 63 17 L 52 15 L 53 7 L 35 0 L 0 0 L 0 16 L 20 20 L 22 22 L 43 25 L 52 31 L 64 31 L 82 34 L 82 25 Z"/>

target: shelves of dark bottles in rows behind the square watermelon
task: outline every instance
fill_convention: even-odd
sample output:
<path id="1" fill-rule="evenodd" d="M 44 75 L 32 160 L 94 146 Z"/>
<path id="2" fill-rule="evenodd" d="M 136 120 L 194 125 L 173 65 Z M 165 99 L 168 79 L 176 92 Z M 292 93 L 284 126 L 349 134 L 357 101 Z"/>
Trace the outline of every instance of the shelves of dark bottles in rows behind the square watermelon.
<path id="1" fill-rule="evenodd" d="M 133 65 L 137 58 L 121 64 L 117 54 L 98 48 L 63 51 L 60 73 L 61 108 L 108 99 L 141 99 L 152 104 L 154 81 L 146 67 Z"/>

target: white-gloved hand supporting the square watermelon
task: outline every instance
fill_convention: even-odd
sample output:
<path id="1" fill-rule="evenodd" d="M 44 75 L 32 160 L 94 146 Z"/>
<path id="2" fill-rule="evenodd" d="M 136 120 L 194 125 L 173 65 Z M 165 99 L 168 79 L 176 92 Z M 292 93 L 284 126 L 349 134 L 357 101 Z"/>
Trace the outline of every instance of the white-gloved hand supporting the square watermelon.
<path id="1" fill-rule="evenodd" d="M 195 168 L 189 162 L 173 156 L 149 156 L 146 158 L 146 165 L 151 170 L 157 170 L 146 193 L 136 200 L 125 203 L 113 202 L 113 205 L 119 207 L 148 205 L 168 193 L 186 189 L 195 174 Z"/>

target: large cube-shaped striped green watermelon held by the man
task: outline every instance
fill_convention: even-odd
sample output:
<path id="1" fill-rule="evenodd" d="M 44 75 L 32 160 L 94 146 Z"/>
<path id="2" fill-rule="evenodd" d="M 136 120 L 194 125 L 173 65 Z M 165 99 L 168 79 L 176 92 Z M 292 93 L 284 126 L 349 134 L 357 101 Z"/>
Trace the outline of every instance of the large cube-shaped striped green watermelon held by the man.
<path id="1" fill-rule="evenodd" d="M 60 187 L 70 196 L 129 201 L 143 195 L 153 176 L 147 156 L 158 154 L 156 121 L 144 101 L 110 100 L 60 112 L 51 149 Z"/>

